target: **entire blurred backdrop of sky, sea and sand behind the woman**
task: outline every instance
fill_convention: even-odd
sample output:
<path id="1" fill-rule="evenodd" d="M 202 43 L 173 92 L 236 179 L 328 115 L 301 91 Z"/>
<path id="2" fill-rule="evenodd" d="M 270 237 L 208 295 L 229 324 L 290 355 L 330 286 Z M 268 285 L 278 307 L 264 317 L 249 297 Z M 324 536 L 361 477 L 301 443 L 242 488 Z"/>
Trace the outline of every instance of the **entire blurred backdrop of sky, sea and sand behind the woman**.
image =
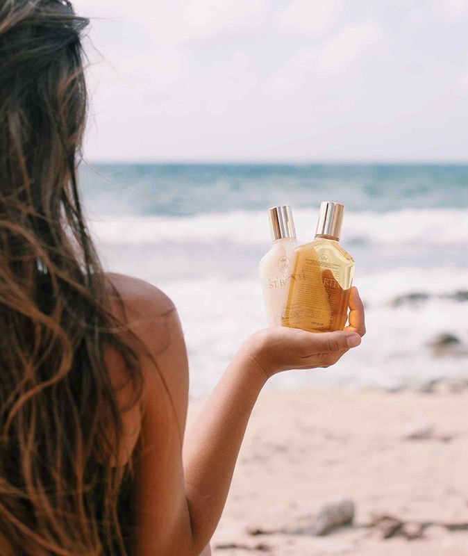
<path id="1" fill-rule="evenodd" d="M 267 384 L 213 554 L 468 554 L 468 0 L 75 6 L 90 227 L 176 303 L 190 414 L 266 324 L 267 208 L 306 242 L 321 201 L 346 206 L 367 336 Z"/>

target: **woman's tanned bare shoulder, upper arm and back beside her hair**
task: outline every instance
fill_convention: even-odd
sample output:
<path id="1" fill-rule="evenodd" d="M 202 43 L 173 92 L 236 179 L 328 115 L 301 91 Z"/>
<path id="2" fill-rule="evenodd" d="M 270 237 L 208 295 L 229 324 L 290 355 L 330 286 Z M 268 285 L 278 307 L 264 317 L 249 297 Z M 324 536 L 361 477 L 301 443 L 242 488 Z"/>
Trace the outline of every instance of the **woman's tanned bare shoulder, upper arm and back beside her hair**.
<path id="1" fill-rule="evenodd" d="M 139 279 L 107 276 L 122 298 L 123 306 L 111 298 L 117 316 L 124 318 L 148 350 L 148 354 L 138 354 L 144 389 L 140 404 L 123 413 L 126 434 L 119 464 L 133 456 L 136 554 L 152 555 L 155 546 L 169 546 L 171 537 L 190 528 L 182 463 L 188 404 L 187 350 L 176 309 L 167 295 Z M 106 363 L 124 408 L 133 396 L 124 362 L 108 348 Z M 208 554 L 209 547 L 203 552 Z"/>

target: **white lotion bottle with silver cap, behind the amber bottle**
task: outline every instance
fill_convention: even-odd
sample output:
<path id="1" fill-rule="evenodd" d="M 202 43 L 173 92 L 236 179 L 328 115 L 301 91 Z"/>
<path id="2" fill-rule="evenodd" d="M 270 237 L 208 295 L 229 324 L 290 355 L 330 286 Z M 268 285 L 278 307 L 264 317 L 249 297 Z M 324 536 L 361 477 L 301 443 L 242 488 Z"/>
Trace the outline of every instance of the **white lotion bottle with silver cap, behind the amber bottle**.
<path id="1" fill-rule="evenodd" d="M 274 206 L 268 211 L 273 246 L 260 261 L 258 270 L 265 310 L 270 326 L 281 326 L 292 252 L 297 247 L 296 230 L 290 206 Z"/>

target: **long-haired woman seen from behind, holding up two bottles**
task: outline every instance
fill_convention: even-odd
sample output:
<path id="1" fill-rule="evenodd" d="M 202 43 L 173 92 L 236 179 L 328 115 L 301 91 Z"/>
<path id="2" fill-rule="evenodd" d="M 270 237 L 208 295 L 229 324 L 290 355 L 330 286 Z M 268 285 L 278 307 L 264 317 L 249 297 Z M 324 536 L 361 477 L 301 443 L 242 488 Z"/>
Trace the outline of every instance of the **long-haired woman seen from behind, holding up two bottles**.
<path id="1" fill-rule="evenodd" d="M 86 24 L 0 0 L 0 554 L 206 555 L 262 386 L 358 345 L 362 303 L 344 332 L 248 338 L 185 434 L 176 309 L 104 274 L 81 212 Z"/>

